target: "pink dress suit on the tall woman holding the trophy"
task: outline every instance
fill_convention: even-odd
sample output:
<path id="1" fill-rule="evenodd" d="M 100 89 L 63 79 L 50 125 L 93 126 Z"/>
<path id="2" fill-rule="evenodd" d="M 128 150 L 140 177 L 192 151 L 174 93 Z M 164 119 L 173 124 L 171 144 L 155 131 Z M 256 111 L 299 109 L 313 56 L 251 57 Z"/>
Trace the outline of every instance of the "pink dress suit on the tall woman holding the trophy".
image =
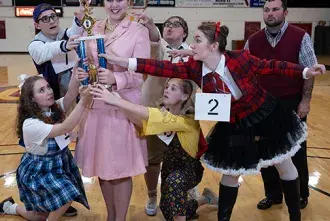
<path id="1" fill-rule="evenodd" d="M 104 34 L 105 23 L 106 20 L 98 21 L 94 34 Z M 148 30 L 129 19 L 124 19 L 114 32 L 107 33 L 104 41 L 106 51 L 121 57 L 150 57 Z M 98 65 L 96 43 L 90 41 L 86 45 L 87 54 Z M 142 75 L 113 65 L 108 69 L 116 78 L 114 90 L 123 99 L 140 104 Z M 78 139 L 75 158 L 86 177 L 115 180 L 146 172 L 146 141 L 138 136 L 134 125 L 117 107 L 94 101 L 80 123 Z"/>

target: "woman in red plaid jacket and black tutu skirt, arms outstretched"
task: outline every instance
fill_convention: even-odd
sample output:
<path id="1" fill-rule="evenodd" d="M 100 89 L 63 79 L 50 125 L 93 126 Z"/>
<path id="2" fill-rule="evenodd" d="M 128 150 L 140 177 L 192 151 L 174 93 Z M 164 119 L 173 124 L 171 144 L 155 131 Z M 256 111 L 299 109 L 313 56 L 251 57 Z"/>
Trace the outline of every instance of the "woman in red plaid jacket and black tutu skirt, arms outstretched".
<path id="1" fill-rule="evenodd" d="M 282 182 L 290 220 L 300 221 L 299 179 L 291 157 L 306 139 L 306 125 L 286 111 L 262 89 L 257 74 L 309 78 L 325 73 L 324 65 L 308 69 L 288 62 L 260 60 L 248 51 L 226 51 L 229 30 L 220 23 L 202 23 L 194 35 L 191 57 L 172 64 L 151 59 L 102 55 L 117 64 L 161 77 L 195 81 L 203 92 L 231 94 L 230 122 L 218 122 L 208 136 L 204 163 L 223 173 L 219 189 L 218 220 L 230 220 L 238 194 L 240 175 L 255 174 L 275 165 Z M 259 149 L 267 142 L 267 149 Z M 265 146 L 265 145 L 263 145 Z"/>

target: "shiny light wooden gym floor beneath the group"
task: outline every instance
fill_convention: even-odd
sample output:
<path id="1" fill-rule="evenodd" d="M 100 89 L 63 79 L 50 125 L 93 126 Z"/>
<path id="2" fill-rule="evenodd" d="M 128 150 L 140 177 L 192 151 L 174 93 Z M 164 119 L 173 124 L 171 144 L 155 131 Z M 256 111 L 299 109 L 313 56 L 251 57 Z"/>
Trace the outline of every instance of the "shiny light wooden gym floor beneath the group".
<path id="1" fill-rule="evenodd" d="M 19 62 L 18 62 L 19 61 Z M 319 57 L 319 63 L 330 65 L 330 57 Z M 0 87 L 18 84 L 16 77 L 19 74 L 35 74 L 35 69 L 28 55 L 0 55 Z M 328 71 L 329 73 L 329 71 Z M 329 73 L 330 74 L 330 73 Z M 0 91 L 0 100 L 16 99 L 8 90 Z M 10 97 L 10 98 L 8 98 Z M 15 118 L 17 104 L 13 102 L 0 102 L 0 201 L 9 196 L 19 202 L 18 189 L 15 181 L 15 170 L 19 164 L 24 149 L 17 145 L 15 135 Z M 308 117 L 308 165 L 310 174 L 310 198 L 306 209 L 302 210 L 304 221 L 325 221 L 330 216 L 330 75 L 316 79 L 311 112 Z M 212 123 L 203 122 L 203 130 L 208 131 Z M 71 146 L 74 153 L 74 145 Z M 205 170 L 204 178 L 199 190 L 210 187 L 218 192 L 218 183 L 221 175 Z M 96 178 L 83 178 L 87 197 L 91 206 L 88 211 L 81 205 L 74 203 L 78 209 L 78 216 L 62 218 L 72 221 L 106 220 L 106 208 Z M 259 200 L 264 198 L 263 183 L 260 175 L 244 176 L 239 190 L 237 204 L 233 211 L 233 221 L 287 221 L 287 208 L 285 204 L 273 206 L 266 211 L 256 208 Z M 134 189 L 127 216 L 127 221 L 163 220 L 161 212 L 155 217 L 148 217 L 144 213 L 147 200 L 146 187 L 143 176 L 134 177 Z M 204 206 L 199 209 L 200 221 L 217 220 L 217 209 Z M 18 216 L 1 216 L 0 220 L 23 220 Z"/>

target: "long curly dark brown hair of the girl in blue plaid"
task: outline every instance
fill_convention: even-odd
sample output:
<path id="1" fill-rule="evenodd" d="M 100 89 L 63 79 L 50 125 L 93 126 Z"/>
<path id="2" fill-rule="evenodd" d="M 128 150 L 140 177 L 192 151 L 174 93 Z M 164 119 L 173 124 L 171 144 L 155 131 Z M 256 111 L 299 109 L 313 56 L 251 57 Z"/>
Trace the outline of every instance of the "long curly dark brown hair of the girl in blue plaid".
<path id="1" fill-rule="evenodd" d="M 40 109 L 38 104 L 33 101 L 33 88 L 38 80 L 44 79 L 41 76 L 29 77 L 25 80 L 21 95 L 19 97 L 19 103 L 17 107 L 17 122 L 16 133 L 19 138 L 23 138 L 23 123 L 28 118 L 37 118 L 47 124 L 55 124 L 63 122 L 65 115 L 62 109 L 54 103 L 50 108 L 54 113 L 53 117 L 47 117 Z"/>

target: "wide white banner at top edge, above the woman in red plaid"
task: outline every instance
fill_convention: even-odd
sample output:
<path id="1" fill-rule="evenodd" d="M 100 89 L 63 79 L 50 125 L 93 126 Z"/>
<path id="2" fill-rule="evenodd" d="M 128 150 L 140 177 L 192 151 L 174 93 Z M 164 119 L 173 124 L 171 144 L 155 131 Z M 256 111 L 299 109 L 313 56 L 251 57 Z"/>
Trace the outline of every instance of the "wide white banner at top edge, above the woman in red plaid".
<path id="1" fill-rule="evenodd" d="M 175 7 L 249 7 L 249 0 L 177 0 Z"/>

